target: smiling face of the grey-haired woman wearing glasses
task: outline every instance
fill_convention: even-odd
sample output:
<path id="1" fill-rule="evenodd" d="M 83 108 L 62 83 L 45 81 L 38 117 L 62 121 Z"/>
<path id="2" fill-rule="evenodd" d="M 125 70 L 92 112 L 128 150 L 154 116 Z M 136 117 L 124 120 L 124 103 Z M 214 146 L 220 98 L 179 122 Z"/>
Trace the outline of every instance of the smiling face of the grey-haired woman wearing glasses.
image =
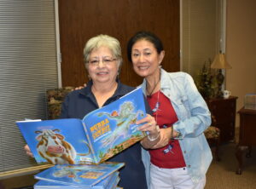
<path id="1" fill-rule="evenodd" d="M 112 51 L 104 46 L 90 52 L 89 63 L 86 66 L 94 84 L 113 83 L 119 72 L 119 60 L 116 60 Z"/>

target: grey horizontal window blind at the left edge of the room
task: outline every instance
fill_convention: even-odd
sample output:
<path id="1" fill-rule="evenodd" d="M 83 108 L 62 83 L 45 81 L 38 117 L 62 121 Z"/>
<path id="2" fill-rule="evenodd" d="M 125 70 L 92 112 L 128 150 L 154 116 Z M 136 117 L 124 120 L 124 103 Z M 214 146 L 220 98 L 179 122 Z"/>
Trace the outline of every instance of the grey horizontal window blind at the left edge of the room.
<path id="1" fill-rule="evenodd" d="M 0 1 L 0 173 L 35 165 L 15 121 L 45 119 L 57 85 L 55 1 Z"/>

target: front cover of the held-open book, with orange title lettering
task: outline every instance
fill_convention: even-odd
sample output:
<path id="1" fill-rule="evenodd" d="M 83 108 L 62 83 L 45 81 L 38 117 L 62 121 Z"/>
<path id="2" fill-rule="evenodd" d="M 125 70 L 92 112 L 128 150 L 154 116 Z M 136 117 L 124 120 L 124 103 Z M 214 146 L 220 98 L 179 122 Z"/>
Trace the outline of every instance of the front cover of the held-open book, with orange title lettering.
<path id="1" fill-rule="evenodd" d="M 108 106 L 87 114 L 84 128 L 93 146 L 96 163 L 102 163 L 142 140 L 144 133 L 136 124 L 146 116 L 143 90 L 133 90 Z"/>

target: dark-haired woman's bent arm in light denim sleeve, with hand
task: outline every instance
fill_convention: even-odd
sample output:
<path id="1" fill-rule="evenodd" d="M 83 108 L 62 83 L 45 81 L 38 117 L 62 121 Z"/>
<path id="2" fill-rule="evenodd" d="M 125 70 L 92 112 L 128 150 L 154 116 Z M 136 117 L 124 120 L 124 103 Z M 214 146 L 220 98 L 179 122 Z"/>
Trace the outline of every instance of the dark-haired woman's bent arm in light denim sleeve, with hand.
<path id="1" fill-rule="evenodd" d="M 153 149 L 166 146 L 171 138 L 182 140 L 186 137 L 197 137 L 211 124 L 207 104 L 196 89 L 192 77 L 186 74 L 178 84 L 183 87 L 183 98 L 174 102 L 179 120 L 172 128 L 160 129 L 160 141 Z"/>

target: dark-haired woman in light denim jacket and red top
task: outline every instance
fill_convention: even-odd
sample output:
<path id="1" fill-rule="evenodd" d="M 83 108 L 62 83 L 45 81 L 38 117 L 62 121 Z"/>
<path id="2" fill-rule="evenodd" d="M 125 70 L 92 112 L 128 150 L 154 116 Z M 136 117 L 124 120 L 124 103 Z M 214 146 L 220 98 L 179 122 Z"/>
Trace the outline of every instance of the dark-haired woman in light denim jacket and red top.
<path id="1" fill-rule="evenodd" d="M 144 77 L 142 87 L 160 126 L 156 145 L 142 141 L 148 187 L 204 188 L 212 152 L 203 132 L 211 115 L 192 77 L 161 68 L 165 51 L 151 32 L 131 37 L 127 55 L 134 71 Z"/>

